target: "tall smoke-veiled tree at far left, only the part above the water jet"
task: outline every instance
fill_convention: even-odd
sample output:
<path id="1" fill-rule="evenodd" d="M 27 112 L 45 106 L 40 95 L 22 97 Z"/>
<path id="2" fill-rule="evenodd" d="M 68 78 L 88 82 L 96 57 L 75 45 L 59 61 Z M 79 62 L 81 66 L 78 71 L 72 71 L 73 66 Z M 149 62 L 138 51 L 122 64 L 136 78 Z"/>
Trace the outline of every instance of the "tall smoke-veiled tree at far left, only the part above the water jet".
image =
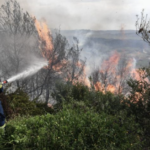
<path id="1" fill-rule="evenodd" d="M 30 65 L 34 51 L 39 55 L 35 35 L 34 19 L 29 13 L 23 12 L 17 1 L 6 1 L 0 8 L 2 76 L 8 78 Z"/>

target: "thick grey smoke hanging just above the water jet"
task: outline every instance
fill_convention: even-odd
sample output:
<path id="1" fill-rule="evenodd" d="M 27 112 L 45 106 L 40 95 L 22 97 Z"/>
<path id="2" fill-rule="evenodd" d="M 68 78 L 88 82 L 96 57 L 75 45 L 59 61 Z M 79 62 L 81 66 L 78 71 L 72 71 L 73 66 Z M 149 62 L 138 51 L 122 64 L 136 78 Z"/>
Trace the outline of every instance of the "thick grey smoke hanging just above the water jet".
<path id="1" fill-rule="evenodd" d="M 14 42 L 12 36 L 0 33 L 0 64 L 3 76 L 7 78 L 37 64 L 42 58 L 36 37 L 20 34 L 16 35 Z"/>

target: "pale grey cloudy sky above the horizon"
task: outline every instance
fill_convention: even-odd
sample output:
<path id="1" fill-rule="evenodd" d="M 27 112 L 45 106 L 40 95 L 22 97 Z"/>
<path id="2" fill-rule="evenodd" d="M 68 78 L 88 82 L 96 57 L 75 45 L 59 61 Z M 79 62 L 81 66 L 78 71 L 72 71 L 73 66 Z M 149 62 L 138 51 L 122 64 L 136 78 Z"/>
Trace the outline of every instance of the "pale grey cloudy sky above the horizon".
<path id="1" fill-rule="evenodd" d="M 0 0 L 2 3 L 4 0 Z M 135 29 L 136 14 L 145 9 L 150 16 L 150 0 L 18 0 L 50 28 L 120 30 Z"/>

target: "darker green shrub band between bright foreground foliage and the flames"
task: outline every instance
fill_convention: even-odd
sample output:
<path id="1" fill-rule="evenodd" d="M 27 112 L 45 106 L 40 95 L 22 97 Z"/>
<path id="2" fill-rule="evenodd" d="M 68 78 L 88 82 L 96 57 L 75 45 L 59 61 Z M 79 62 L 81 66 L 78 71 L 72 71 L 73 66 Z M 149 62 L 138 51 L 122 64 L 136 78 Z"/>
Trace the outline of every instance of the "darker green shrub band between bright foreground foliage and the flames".
<path id="1" fill-rule="evenodd" d="M 140 134 L 141 142 L 144 143 L 142 148 L 148 149 L 150 148 L 150 84 L 144 79 L 143 77 L 141 81 L 132 79 L 128 81 L 131 88 L 129 97 L 114 95 L 110 92 L 104 94 L 82 84 L 59 85 L 54 96 L 59 102 L 57 104 L 59 108 L 62 108 L 63 101 L 67 103 L 74 101 L 74 107 L 77 102 L 80 102 L 82 109 L 92 109 L 99 114 L 106 113 L 113 116 L 125 114 L 129 118 L 134 116 L 135 123 L 140 125 L 137 130 L 142 130 Z M 84 106 L 81 105 L 83 103 Z"/>

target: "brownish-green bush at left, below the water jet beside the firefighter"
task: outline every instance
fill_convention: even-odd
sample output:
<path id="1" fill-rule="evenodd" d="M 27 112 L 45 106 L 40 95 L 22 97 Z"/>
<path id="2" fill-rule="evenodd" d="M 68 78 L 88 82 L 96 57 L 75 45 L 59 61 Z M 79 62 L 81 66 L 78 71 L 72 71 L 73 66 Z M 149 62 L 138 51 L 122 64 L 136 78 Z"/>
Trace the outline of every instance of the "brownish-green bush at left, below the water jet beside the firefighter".
<path id="1" fill-rule="evenodd" d="M 6 117 L 12 118 L 17 115 L 42 115 L 46 112 L 52 112 L 51 108 L 48 108 L 45 103 L 37 103 L 30 101 L 29 96 L 24 91 L 17 89 L 14 93 L 8 94 L 6 98 L 9 104 L 9 113 L 5 113 Z"/>

